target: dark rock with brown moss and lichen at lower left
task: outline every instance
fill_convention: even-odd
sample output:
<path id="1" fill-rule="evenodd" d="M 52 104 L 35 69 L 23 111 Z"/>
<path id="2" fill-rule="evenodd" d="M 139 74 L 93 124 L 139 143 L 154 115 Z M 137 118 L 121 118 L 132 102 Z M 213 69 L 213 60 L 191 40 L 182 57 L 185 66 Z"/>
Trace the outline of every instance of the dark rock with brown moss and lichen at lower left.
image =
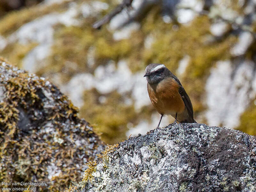
<path id="1" fill-rule="evenodd" d="M 1 181 L 45 182 L 36 191 L 63 191 L 103 149 L 56 86 L 0 59 Z"/>

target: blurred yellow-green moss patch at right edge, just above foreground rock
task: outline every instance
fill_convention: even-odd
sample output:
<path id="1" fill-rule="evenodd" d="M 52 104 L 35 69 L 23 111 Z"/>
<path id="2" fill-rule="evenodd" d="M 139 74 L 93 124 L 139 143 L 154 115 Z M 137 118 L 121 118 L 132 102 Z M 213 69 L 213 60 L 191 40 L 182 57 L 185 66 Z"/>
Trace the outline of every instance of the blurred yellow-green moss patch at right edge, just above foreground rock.
<path id="1" fill-rule="evenodd" d="M 244 111 L 240 117 L 240 125 L 236 128 L 250 135 L 256 135 L 256 100 Z"/>

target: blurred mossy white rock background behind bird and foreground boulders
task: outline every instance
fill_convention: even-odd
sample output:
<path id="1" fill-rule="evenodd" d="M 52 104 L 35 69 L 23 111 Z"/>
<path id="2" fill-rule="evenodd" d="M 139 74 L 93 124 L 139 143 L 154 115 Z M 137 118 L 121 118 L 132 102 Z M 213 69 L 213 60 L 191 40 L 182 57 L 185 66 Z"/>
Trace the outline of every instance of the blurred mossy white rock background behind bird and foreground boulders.
<path id="1" fill-rule="evenodd" d="M 256 135 L 255 0 L 133 0 L 92 28 L 120 3 L 1 0 L 0 56 L 56 84 L 109 144 L 156 128 L 153 62 L 179 77 L 197 122 Z"/>

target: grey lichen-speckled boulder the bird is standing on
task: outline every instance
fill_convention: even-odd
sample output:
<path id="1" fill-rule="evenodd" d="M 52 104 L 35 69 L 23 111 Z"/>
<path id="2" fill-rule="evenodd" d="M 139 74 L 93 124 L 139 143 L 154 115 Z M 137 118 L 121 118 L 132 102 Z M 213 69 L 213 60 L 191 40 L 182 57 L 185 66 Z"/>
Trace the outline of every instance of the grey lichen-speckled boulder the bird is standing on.
<path id="1" fill-rule="evenodd" d="M 205 124 L 170 124 L 108 147 L 80 192 L 256 190 L 256 137 Z M 87 182 L 86 182 L 87 181 Z"/>

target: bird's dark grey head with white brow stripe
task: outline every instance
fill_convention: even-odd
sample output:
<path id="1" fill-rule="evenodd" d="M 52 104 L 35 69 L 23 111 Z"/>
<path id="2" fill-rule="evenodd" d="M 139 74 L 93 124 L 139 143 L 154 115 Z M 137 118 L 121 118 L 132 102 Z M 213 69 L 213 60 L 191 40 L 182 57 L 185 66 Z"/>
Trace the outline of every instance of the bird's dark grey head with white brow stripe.
<path id="1" fill-rule="evenodd" d="M 168 76 L 168 69 L 163 64 L 151 63 L 146 67 L 146 74 L 144 77 L 147 77 L 149 84 L 159 83 Z"/>

